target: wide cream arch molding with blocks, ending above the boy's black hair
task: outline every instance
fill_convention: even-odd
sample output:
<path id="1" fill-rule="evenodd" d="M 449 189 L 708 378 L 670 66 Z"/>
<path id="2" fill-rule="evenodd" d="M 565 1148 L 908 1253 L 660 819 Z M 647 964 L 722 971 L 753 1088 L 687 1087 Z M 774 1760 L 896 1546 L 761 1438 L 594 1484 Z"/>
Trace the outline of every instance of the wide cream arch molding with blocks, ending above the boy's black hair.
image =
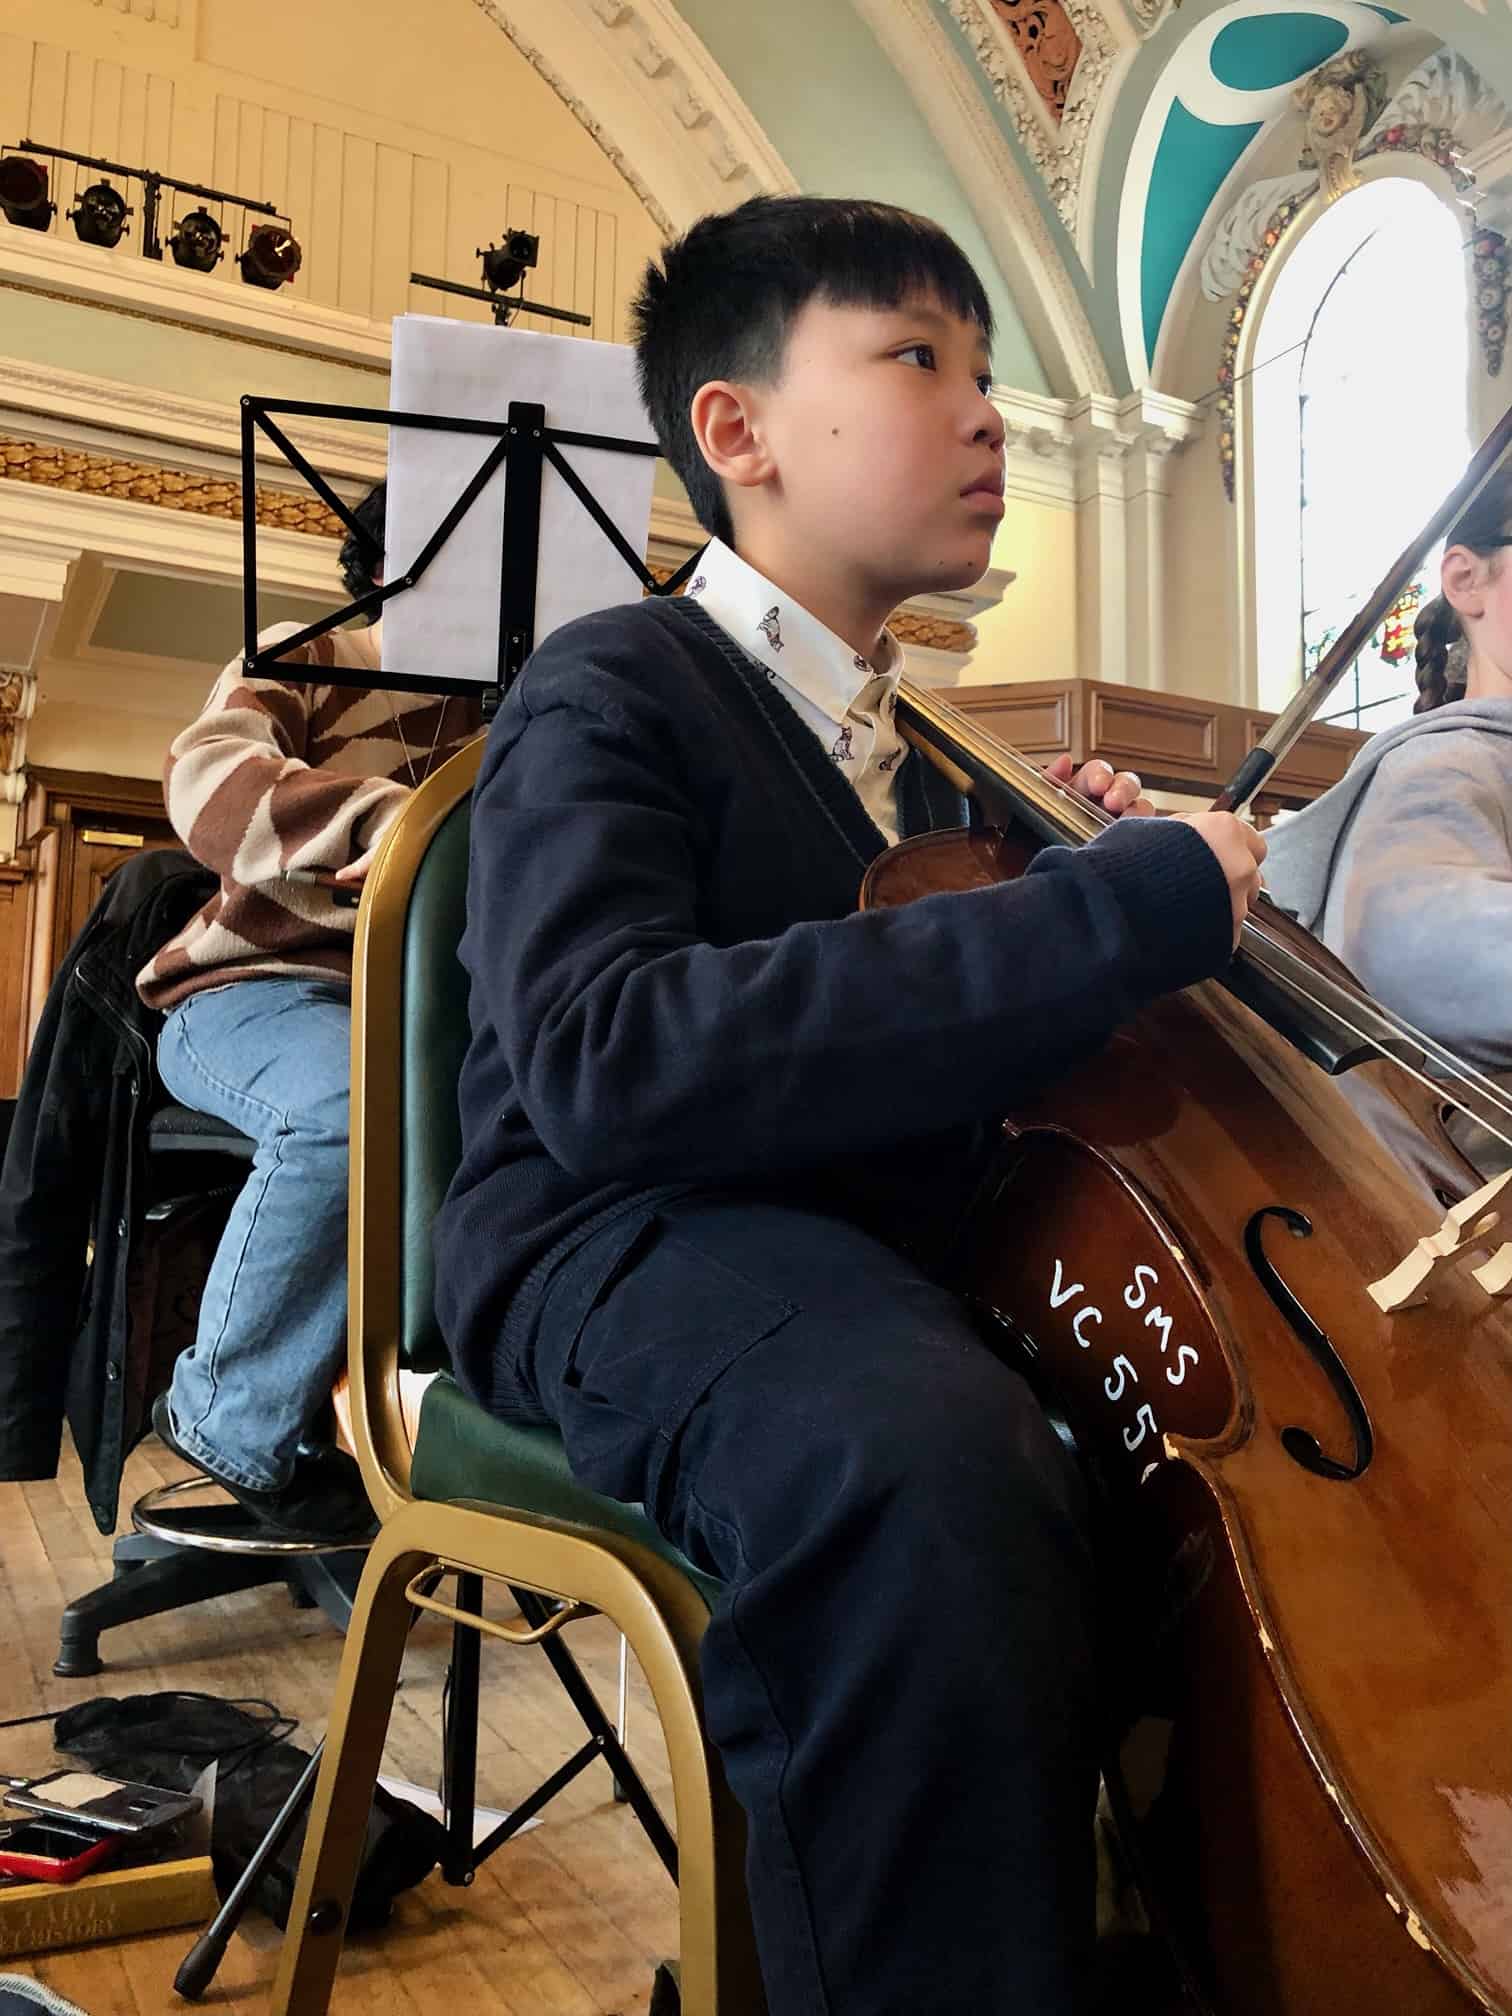
<path id="1" fill-rule="evenodd" d="M 798 183 L 669 0 L 474 0 L 675 238 Z"/>

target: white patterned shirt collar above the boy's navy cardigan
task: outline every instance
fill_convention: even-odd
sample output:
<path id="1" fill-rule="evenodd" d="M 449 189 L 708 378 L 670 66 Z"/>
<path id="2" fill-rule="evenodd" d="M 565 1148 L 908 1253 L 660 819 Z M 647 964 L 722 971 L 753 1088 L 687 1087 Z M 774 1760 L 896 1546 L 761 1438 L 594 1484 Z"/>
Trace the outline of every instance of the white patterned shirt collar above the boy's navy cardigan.
<path id="1" fill-rule="evenodd" d="M 687 593 L 758 665 L 802 694 L 837 728 L 873 679 L 883 681 L 883 691 L 897 691 L 905 667 L 903 647 L 891 631 L 883 631 L 877 669 L 720 538 L 704 548 Z M 875 706 L 875 696 L 869 698 Z"/>

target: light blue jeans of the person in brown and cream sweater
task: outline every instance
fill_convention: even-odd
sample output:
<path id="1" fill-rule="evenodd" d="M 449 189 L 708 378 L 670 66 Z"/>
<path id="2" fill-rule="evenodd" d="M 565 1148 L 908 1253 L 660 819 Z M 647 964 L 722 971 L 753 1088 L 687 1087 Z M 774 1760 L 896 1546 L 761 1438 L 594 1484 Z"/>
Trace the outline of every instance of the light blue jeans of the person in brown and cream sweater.
<path id="1" fill-rule="evenodd" d="M 276 1490 L 347 1351 L 351 996 L 323 980 L 192 994 L 157 1070 L 258 1145 L 173 1367 L 173 1431 L 218 1476 Z"/>

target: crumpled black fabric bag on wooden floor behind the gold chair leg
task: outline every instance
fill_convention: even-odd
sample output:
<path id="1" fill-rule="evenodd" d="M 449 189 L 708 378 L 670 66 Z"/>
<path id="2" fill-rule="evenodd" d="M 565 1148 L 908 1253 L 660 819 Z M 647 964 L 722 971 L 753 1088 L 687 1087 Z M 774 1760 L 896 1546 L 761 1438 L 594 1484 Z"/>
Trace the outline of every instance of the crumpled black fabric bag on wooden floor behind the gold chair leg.
<path id="1" fill-rule="evenodd" d="M 91 1770 L 187 1792 L 216 1762 L 216 1816 L 210 1855 L 222 1897 L 252 1861 L 294 1780 L 310 1760 L 290 1744 L 294 1728 L 270 1702 L 224 1702 L 214 1693 L 101 1695 L 69 1708 L 52 1724 L 58 1750 Z M 349 1931 L 387 1925 L 393 1899 L 413 1889 L 442 1855 L 442 1822 L 407 1798 L 377 1788 L 357 1871 Z M 262 1873 L 254 1903 L 274 1925 L 288 1923 L 304 1845 L 300 1820 Z"/>

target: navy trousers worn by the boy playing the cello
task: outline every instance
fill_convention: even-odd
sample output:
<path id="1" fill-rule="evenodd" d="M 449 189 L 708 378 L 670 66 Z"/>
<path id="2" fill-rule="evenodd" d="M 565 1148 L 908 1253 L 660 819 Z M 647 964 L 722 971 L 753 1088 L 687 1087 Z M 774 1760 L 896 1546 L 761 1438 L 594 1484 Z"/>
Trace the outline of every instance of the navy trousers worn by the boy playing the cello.
<path id="1" fill-rule="evenodd" d="M 728 1585 L 706 1714 L 772 2016 L 1081 2010 L 1087 1514 L 962 1304 L 843 1220 L 681 1200 L 579 1248 L 498 1371 Z"/>

